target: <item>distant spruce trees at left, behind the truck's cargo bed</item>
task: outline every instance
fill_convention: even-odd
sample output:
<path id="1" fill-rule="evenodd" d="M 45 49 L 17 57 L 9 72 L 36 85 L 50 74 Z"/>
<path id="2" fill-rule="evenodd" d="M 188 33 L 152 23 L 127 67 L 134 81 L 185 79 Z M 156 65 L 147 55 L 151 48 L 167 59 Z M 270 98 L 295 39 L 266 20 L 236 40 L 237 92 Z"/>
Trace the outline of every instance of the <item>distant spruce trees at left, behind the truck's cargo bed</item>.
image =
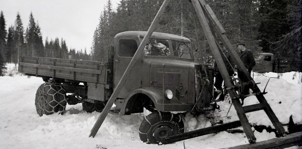
<path id="1" fill-rule="evenodd" d="M 26 30 L 23 27 L 19 12 L 17 13 L 14 25 L 5 29 L 4 12 L 0 13 L 0 63 L 18 63 L 19 56 L 37 56 L 37 57 L 54 57 L 65 58 L 71 55 L 72 59 L 91 60 L 90 54 L 86 49 L 77 51 L 69 49 L 63 38 L 48 39 L 46 37 L 43 43 L 41 28 L 35 21 L 33 14 L 29 16 L 29 23 Z"/>

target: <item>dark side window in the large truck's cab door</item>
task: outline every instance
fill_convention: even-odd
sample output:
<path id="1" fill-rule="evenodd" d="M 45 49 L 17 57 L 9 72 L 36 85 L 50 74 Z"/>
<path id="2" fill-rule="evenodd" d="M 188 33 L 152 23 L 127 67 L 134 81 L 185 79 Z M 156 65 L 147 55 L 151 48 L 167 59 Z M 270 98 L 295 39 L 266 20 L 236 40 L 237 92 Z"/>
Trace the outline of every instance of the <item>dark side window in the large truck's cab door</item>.
<path id="1" fill-rule="evenodd" d="M 119 41 L 118 55 L 120 57 L 133 57 L 137 50 L 137 42 L 133 39 L 121 39 Z"/>

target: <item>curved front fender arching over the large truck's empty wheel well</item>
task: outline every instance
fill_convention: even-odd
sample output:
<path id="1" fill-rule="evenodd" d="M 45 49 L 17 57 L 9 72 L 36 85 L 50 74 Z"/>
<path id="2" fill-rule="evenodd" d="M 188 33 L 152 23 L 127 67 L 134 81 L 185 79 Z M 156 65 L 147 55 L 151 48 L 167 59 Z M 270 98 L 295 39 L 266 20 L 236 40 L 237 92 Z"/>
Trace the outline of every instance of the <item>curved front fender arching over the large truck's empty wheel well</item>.
<path id="1" fill-rule="evenodd" d="M 151 87 L 144 87 L 144 88 L 138 88 L 134 91 L 132 91 L 127 98 L 125 98 L 124 104 L 120 110 L 120 116 L 125 115 L 125 110 L 126 110 L 126 106 L 128 101 L 136 94 L 145 94 L 147 95 L 154 103 L 156 109 L 158 109 L 158 104 L 162 103 L 162 89 L 159 88 L 151 88 Z"/>

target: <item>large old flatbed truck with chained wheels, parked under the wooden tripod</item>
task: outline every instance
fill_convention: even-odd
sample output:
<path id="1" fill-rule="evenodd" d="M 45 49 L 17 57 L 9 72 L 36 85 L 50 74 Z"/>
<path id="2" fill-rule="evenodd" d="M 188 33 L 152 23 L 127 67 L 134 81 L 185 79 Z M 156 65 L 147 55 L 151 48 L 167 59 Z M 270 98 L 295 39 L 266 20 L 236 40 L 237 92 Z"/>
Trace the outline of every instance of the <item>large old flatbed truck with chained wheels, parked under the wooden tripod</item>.
<path id="1" fill-rule="evenodd" d="M 37 89 L 37 113 L 64 111 L 67 103 L 82 103 L 84 111 L 101 112 L 145 34 L 118 33 L 114 46 L 108 48 L 107 62 L 21 56 L 19 71 L 45 81 Z M 213 67 L 194 63 L 188 38 L 153 32 L 110 112 L 123 116 L 144 108 L 151 111 L 140 125 L 140 139 L 158 143 L 184 132 L 180 115 L 173 113 L 218 107 L 213 79 Z"/>

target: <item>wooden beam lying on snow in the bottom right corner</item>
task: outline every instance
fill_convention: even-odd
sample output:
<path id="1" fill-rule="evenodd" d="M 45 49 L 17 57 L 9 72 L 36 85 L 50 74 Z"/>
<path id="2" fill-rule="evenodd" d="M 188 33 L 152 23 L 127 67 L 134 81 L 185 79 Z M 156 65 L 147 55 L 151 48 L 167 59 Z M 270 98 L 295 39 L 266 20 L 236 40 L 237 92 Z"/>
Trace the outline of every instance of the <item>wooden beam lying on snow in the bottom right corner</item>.
<path id="1" fill-rule="evenodd" d="M 287 135 L 286 137 L 273 138 L 266 141 L 256 142 L 255 144 L 244 144 L 235 147 L 227 147 L 228 149 L 281 149 L 296 145 L 302 145 L 302 132 L 296 132 Z"/>

